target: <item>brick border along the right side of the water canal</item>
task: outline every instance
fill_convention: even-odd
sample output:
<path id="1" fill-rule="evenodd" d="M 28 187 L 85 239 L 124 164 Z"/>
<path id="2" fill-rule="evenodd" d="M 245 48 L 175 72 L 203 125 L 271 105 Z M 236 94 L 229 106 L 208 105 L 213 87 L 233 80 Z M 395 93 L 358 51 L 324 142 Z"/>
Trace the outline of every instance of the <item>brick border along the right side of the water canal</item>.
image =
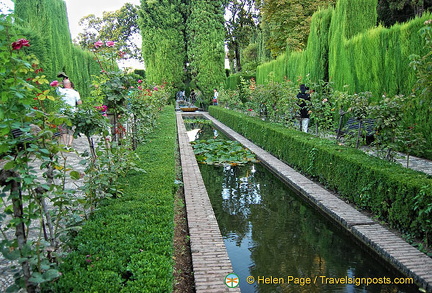
<path id="1" fill-rule="evenodd" d="M 412 277 L 428 292 L 432 292 L 432 259 L 430 257 L 207 113 L 202 113 L 202 115 L 212 120 L 214 125 L 228 137 L 239 141 L 254 152 L 261 163 L 316 205 L 328 217 L 339 223 L 357 240 L 371 248 L 404 275 Z"/>

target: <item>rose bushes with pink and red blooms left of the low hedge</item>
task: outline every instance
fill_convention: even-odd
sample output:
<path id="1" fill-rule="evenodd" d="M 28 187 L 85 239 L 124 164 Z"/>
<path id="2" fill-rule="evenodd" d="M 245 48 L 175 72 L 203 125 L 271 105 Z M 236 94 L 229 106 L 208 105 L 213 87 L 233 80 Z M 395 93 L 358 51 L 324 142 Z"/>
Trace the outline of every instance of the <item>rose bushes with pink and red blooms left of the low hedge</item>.
<path id="1" fill-rule="evenodd" d="M 84 221 L 103 200 L 122 195 L 119 179 L 132 169 L 141 170 L 131 152 L 132 132 L 126 127 L 131 124 L 130 128 L 139 129 L 142 142 L 170 91 L 164 85 L 144 87 L 136 76 L 116 69 L 105 55 L 100 64 L 110 65 L 111 71 L 102 70 L 94 77 L 94 95 L 83 98 L 84 105 L 76 114 L 60 114 L 62 102 L 43 74 L 43 64 L 26 52 L 32 44 L 12 20 L 12 15 L 2 16 L 0 25 L 4 64 L 0 83 L 0 131 L 4 137 L 0 142 L 0 249 L 5 258 L 17 263 L 15 284 L 8 291 L 25 288 L 36 292 L 40 284 L 61 276 L 61 259 Z M 115 49 L 112 41 L 104 45 Z M 51 82 L 54 85 L 56 82 Z M 113 112 L 114 121 L 102 115 L 102 104 Z M 141 110 L 132 112 L 137 109 Z M 87 157 L 83 155 L 83 173 L 69 165 L 67 154 L 74 151 L 57 139 L 62 124 L 76 125 L 75 135 L 88 138 L 91 148 Z M 83 182 L 79 188 L 65 184 L 78 184 L 79 180 Z"/>

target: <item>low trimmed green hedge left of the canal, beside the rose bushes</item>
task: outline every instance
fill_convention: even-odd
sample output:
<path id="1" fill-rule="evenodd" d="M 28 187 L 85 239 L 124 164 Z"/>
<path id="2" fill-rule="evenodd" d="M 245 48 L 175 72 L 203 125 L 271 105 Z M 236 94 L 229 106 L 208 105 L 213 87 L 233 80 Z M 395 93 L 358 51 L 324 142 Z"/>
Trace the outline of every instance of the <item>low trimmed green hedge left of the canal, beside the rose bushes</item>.
<path id="1" fill-rule="evenodd" d="M 172 292 L 176 133 L 166 107 L 137 149 L 146 172 L 129 174 L 123 197 L 85 223 L 54 292 Z"/>

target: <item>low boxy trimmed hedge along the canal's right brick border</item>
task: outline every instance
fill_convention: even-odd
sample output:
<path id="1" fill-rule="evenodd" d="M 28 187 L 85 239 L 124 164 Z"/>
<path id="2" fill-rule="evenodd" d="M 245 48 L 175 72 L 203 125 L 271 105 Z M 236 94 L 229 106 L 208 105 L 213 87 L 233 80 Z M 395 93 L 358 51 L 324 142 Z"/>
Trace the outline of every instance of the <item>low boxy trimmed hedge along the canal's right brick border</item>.
<path id="1" fill-rule="evenodd" d="M 431 176 L 221 107 L 210 107 L 209 113 L 392 227 L 431 240 Z"/>

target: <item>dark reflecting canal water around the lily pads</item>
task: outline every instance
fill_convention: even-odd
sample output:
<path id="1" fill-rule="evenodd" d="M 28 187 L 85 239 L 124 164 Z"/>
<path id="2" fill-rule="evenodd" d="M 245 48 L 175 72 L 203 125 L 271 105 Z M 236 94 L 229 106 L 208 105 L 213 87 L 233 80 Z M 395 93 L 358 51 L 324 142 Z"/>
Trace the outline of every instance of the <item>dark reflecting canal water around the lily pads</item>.
<path id="1" fill-rule="evenodd" d="M 419 292 L 261 164 L 200 169 L 241 292 Z"/>

